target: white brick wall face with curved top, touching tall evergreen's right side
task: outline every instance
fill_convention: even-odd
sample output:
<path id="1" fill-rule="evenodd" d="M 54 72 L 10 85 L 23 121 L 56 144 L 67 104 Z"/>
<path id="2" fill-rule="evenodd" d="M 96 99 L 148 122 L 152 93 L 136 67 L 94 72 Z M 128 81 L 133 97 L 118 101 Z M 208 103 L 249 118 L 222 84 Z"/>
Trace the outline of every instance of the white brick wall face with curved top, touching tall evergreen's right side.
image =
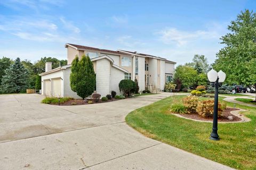
<path id="1" fill-rule="evenodd" d="M 101 97 L 110 93 L 110 61 L 106 58 L 97 60 L 96 91 Z"/>

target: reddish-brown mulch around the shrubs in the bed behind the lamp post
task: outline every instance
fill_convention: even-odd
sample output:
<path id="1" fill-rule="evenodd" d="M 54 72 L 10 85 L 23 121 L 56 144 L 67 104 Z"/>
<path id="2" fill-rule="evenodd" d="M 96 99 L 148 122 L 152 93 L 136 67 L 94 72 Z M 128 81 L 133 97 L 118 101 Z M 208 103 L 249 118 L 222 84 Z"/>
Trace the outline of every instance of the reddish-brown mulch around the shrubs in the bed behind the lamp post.
<path id="1" fill-rule="evenodd" d="M 239 109 L 236 109 L 236 108 L 230 108 L 230 107 L 227 107 L 223 112 L 222 112 L 222 116 L 218 118 L 218 122 L 238 122 L 238 121 L 241 121 L 242 119 L 231 114 L 230 112 L 231 111 L 237 111 Z M 187 118 L 191 118 L 191 119 L 194 119 L 194 120 L 200 120 L 200 121 L 213 121 L 213 118 L 212 117 L 201 117 L 200 115 L 198 114 L 179 114 L 183 117 L 187 117 Z M 233 120 L 230 121 L 228 120 L 228 116 L 233 116 Z"/>

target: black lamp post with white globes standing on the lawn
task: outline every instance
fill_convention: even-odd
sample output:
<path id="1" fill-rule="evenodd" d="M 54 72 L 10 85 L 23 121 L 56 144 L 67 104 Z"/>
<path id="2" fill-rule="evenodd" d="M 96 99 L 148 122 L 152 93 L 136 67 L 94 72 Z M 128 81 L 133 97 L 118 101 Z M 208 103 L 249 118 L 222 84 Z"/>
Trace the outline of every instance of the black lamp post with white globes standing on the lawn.
<path id="1" fill-rule="evenodd" d="M 226 79 L 226 74 L 223 71 L 211 70 L 207 73 L 207 78 L 211 83 L 214 83 L 215 86 L 215 95 L 214 95 L 214 110 L 213 110 L 213 125 L 211 140 L 220 140 L 218 135 L 218 95 L 219 95 L 219 83 L 222 83 Z"/>

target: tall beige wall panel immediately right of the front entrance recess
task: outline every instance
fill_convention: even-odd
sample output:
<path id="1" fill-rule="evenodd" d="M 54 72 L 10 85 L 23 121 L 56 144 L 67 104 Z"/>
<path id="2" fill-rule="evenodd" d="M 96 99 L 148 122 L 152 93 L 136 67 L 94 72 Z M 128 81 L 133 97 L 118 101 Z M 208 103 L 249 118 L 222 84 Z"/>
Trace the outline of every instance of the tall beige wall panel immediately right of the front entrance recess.
<path id="1" fill-rule="evenodd" d="M 151 75 L 149 85 L 157 87 L 157 60 L 155 58 L 149 58 L 148 71 L 149 75 Z"/>

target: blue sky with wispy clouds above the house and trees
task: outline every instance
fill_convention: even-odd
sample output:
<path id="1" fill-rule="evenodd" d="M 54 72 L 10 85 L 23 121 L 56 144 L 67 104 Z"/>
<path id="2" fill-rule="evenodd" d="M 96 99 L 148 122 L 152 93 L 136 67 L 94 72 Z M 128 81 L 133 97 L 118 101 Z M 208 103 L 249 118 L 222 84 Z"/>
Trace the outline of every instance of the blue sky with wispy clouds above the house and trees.
<path id="1" fill-rule="evenodd" d="M 66 59 L 65 43 L 124 49 L 178 64 L 209 62 L 227 25 L 256 1 L 0 1 L 0 56 Z"/>

